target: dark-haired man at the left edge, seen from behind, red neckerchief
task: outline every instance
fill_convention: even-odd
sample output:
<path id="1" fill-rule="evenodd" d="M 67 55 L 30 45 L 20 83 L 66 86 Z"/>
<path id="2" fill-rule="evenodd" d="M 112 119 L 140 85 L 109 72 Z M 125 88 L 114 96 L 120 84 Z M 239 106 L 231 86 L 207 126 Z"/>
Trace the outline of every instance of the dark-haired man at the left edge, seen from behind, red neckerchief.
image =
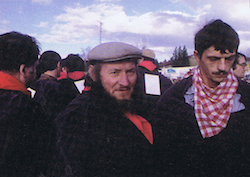
<path id="1" fill-rule="evenodd" d="M 0 35 L 0 176 L 35 177 L 46 170 L 47 128 L 27 86 L 36 78 L 39 46 L 18 32 Z"/>

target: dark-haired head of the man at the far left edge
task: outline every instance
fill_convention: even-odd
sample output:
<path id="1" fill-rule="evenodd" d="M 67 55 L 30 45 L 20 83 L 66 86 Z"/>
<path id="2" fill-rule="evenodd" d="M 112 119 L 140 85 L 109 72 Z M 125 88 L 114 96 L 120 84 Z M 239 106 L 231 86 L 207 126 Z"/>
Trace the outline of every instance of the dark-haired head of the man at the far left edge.
<path id="1" fill-rule="evenodd" d="M 0 70 L 26 85 L 36 78 L 39 46 L 35 38 L 19 32 L 0 35 Z"/>

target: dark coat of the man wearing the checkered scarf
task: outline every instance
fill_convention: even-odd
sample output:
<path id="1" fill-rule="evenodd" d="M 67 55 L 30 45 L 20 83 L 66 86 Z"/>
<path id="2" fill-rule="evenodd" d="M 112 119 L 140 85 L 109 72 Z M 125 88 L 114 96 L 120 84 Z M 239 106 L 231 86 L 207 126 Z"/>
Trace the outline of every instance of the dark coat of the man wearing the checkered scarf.
<path id="1" fill-rule="evenodd" d="M 249 176 L 250 86 L 239 81 L 236 93 L 245 110 L 231 113 L 227 127 L 203 139 L 194 108 L 184 94 L 192 76 L 170 88 L 154 111 L 159 176 Z"/>

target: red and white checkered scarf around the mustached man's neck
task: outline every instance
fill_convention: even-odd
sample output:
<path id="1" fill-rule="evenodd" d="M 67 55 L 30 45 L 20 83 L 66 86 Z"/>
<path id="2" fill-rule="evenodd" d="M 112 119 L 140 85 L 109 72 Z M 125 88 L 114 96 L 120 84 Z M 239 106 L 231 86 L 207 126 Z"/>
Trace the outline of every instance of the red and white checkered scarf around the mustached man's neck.
<path id="1" fill-rule="evenodd" d="M 212 89 L 204 84 L 200 70 L 196 68 L 193 73 L 193 85 L 195 116 L 201 135 L 208 138 L 219 134 L 227 126 L 238 80 L 230 70 L 226 80 Z"/>

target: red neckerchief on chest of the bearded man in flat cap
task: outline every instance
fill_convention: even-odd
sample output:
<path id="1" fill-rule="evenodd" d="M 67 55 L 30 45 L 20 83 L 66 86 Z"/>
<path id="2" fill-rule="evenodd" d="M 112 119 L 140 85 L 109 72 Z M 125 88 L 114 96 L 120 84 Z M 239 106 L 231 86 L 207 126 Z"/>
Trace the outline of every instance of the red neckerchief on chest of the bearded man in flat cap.
<path id="1" fill-rule="evenodd" d="M 151 124 L 139 115 L 126 113 L 125 116 L 143 133 L 150 144 L 153 144 L 153 132 Z"/>

